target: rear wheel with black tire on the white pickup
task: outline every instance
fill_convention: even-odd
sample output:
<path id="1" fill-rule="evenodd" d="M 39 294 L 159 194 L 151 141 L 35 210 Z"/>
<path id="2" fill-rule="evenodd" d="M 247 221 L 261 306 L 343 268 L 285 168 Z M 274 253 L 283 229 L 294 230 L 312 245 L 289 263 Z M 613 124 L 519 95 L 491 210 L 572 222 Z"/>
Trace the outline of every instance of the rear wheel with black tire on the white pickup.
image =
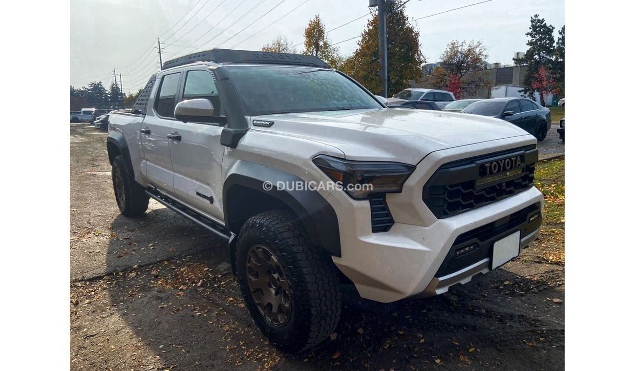
<path id="1" fill-rule="evenodd" d="M 150 197 L 144 188 L 135 181 L 133 174 L 128 171 L 123 156 L 118 155 L 112 160 L 112 188 L 121 214 L 125 216 L 143 216 L 148 209 Z"/>

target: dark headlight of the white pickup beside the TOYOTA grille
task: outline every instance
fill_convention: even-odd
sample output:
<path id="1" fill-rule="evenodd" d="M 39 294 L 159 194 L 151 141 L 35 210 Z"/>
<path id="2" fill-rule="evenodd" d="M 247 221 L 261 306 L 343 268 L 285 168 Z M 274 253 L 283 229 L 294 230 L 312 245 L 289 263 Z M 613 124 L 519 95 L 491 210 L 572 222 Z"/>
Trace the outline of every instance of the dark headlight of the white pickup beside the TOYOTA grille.
<path id="1" fill-rule="evenodd" d="M 318 155 L 313 163 L 331 180 L 340 182 L 353 199 L 367 199 L 371 193 L 399 193 L 415 170 L 399 162 L 351 161 Z"/>

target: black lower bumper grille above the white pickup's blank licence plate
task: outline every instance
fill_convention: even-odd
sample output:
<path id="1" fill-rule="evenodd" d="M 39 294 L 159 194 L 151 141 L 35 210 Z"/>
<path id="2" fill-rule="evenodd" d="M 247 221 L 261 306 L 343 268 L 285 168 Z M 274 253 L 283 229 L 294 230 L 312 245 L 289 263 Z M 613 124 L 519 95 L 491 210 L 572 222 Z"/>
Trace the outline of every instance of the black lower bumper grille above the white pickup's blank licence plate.
<path id="1" fill-rule="evenodd" d="M 448 255 L 446 255 L 434 277 L 449 275 L 467 266 L 471 266 L 486 257 L 491 257 L 491 248 L 494 242 L 507 237 L 507 235 L 515 231 L 520 231 L 520 238 L 522 240 L 531 232 L 537 230 L 541 223 L 540 202 L 537 202 L 509 216 L 461 233 L 457 239 L 454 240 Z M 471 245 L 475 245 L 476 249 L 467 252 L 467 254 L 457 256 L 457 251 L 460 252 L 461 249 Z"/>

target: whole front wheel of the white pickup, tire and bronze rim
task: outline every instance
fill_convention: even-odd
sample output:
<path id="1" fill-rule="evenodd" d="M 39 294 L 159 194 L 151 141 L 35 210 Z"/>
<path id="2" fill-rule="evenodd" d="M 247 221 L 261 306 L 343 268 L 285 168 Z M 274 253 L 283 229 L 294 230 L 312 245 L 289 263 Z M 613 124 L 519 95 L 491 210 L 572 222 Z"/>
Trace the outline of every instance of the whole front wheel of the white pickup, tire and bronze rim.
<path id="1" fill-rule="evenodd" d="M 267 211 L 246 221 L 236 265 L 251 318 L 279 348 L 309 349 L 337 327 L 342 299 L 336 268 L 291 212 Z"/>

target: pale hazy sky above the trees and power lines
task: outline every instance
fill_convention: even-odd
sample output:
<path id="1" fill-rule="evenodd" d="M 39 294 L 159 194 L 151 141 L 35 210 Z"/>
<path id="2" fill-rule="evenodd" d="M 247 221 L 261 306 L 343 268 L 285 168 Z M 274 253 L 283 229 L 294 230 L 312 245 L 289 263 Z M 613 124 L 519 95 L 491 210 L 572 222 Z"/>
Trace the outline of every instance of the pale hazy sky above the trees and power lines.
<path id="1" fill-rule="evenodd" d="M 410 0 L 405 11 L 413 19 L 480 1 Z M 277 36 L 302 43 L 304 28 L 316 14 L 331 30 L 368 11 L 368 0 L 71 0 L 70 84 L 79 88 L 102 81 L 108 88 L 116 71 L 124 92 L 142 88 L 158 70 L 157 38 L 163 62 L 197 48 L 259 50 Z M 525 33 L 535 14 L 556 28 L 557 37 L 565 23 L 564 0 L 491 0 L 413 23 L 428 63 L 437 62 L 456 39 L 482 41 L 488 62 L 511 64 L 514 52 L 526 50 Z M 363 16 L 329 32 L 330 43 L 359 36 L 368 19 Z M 352 54 L 358 40 L 338 44 L 340 53 Z"/>

